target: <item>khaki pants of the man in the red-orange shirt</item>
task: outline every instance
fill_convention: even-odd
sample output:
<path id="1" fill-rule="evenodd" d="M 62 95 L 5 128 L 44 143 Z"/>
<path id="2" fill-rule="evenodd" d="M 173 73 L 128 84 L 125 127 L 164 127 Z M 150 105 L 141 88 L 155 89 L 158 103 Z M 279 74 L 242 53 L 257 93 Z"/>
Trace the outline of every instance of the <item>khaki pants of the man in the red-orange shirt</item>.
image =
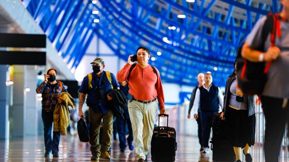
<path id="1" fill-rule="evenodd" d="M 144 104 L 132 100 L 128 103 L 137 160 L 145 159 L 149 152 L 157 110 L 157 101 Z"/>

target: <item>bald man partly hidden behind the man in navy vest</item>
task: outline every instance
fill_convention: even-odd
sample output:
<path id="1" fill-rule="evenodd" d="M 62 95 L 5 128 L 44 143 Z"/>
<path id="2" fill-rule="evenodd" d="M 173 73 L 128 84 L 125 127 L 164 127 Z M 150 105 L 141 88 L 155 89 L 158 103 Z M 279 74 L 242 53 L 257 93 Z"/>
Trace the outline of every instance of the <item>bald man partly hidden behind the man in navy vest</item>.
<path id="1" fill-rule="evenodd" d="M 194 87 L 194 89 L 192 91 L 192 95 L 191 95 L 191 99 L 190 99 L 190 105 L 189 105 L 188 118 L 191 118 L 191 114 L 190 113 L 191 113 L 192 107 L 194 105 L 196 91 L 197 91 L 197 89 L 199 87 L 201 87 L 201 86 L 203 86 L 205 84 L 204 77 L 205 77 L 204 73 L 199 73 L 198 74 L 197 81 L 199 82 L 199 85 Z M 201 110 L 200 109 L 198 109 L 198 116 L 201 117 Z M 203 146 L 203 136 L 202 136 L 202 121 L 201 121 L 201 118 L 197 118 L 196 120 L 197 120 L 197 123 L 198 123 L 199 143 L 201 145 L 200 152 L 203 152 L 204 146 Z"/>

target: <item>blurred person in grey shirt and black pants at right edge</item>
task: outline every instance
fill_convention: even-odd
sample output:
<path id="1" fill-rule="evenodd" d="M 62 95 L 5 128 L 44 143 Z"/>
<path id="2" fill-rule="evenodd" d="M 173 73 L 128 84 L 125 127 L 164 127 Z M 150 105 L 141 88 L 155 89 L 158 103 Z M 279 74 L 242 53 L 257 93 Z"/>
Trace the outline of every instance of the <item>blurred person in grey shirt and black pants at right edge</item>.
<path id="1" fill-rule="evenodd" d="M 274 14 L 273 30 L 262 40 L 267 17 L 256 23 L 242 47 L 242 57 L 251 62 L 266 62 L 267 80 L 261 94 L 266 120 L 264 154 L 266 162 L 278 162 L 285 124 L 289 118 L 289 0 L 281 0 L 283 10 Z M 262 44 L 264 42 L 264 44 Z M 263 48 L 260 49 L 260 46 Z M 271 45 L 271 46 L 270 46 Z M 267 64 L 268 65 L 268 64 Z"/>

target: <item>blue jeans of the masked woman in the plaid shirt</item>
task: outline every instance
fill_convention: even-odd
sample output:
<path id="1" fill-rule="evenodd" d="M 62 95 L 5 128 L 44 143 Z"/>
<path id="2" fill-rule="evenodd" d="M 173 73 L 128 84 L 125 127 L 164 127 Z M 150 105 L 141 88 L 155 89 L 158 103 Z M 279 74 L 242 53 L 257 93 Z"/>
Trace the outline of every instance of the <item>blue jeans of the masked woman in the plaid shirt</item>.
<path id="1" fill-rule="evenodd" d="M 42 120 L 44 125 L 44 144 L 45 151 L 52 153 L 58 153 L 58 145 L 60 141 L 60 131 L 53 132 L 53 139 L 51 138 L 52 123 L 53 123 L 53 111 L 46 112 L 42 110 Z"/>

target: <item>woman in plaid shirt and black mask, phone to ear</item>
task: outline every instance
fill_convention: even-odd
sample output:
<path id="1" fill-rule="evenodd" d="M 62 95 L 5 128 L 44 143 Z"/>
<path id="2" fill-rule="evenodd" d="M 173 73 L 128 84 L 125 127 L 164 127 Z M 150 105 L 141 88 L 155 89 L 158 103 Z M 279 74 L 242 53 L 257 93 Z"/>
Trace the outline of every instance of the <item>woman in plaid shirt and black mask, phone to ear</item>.
<path id="1" fill-rule="evenodd" d="M 57 70 L 49 69 L 45 75 L 45 80 L 37 87 L 36 92 L 42 94 L 42 120 L 44 125 L 44 143 L 45 157 L 49 157 L 52 151 L 53 157 L 58 157 L 58 145 L 60 141 L 60 131 L 53 131 L 51 138 L 51 130 L 53 124 L 53 111 L 57 102 L 57 95 L 61 92 L 67 92 L 64 84 L 56 80 Z"/>

